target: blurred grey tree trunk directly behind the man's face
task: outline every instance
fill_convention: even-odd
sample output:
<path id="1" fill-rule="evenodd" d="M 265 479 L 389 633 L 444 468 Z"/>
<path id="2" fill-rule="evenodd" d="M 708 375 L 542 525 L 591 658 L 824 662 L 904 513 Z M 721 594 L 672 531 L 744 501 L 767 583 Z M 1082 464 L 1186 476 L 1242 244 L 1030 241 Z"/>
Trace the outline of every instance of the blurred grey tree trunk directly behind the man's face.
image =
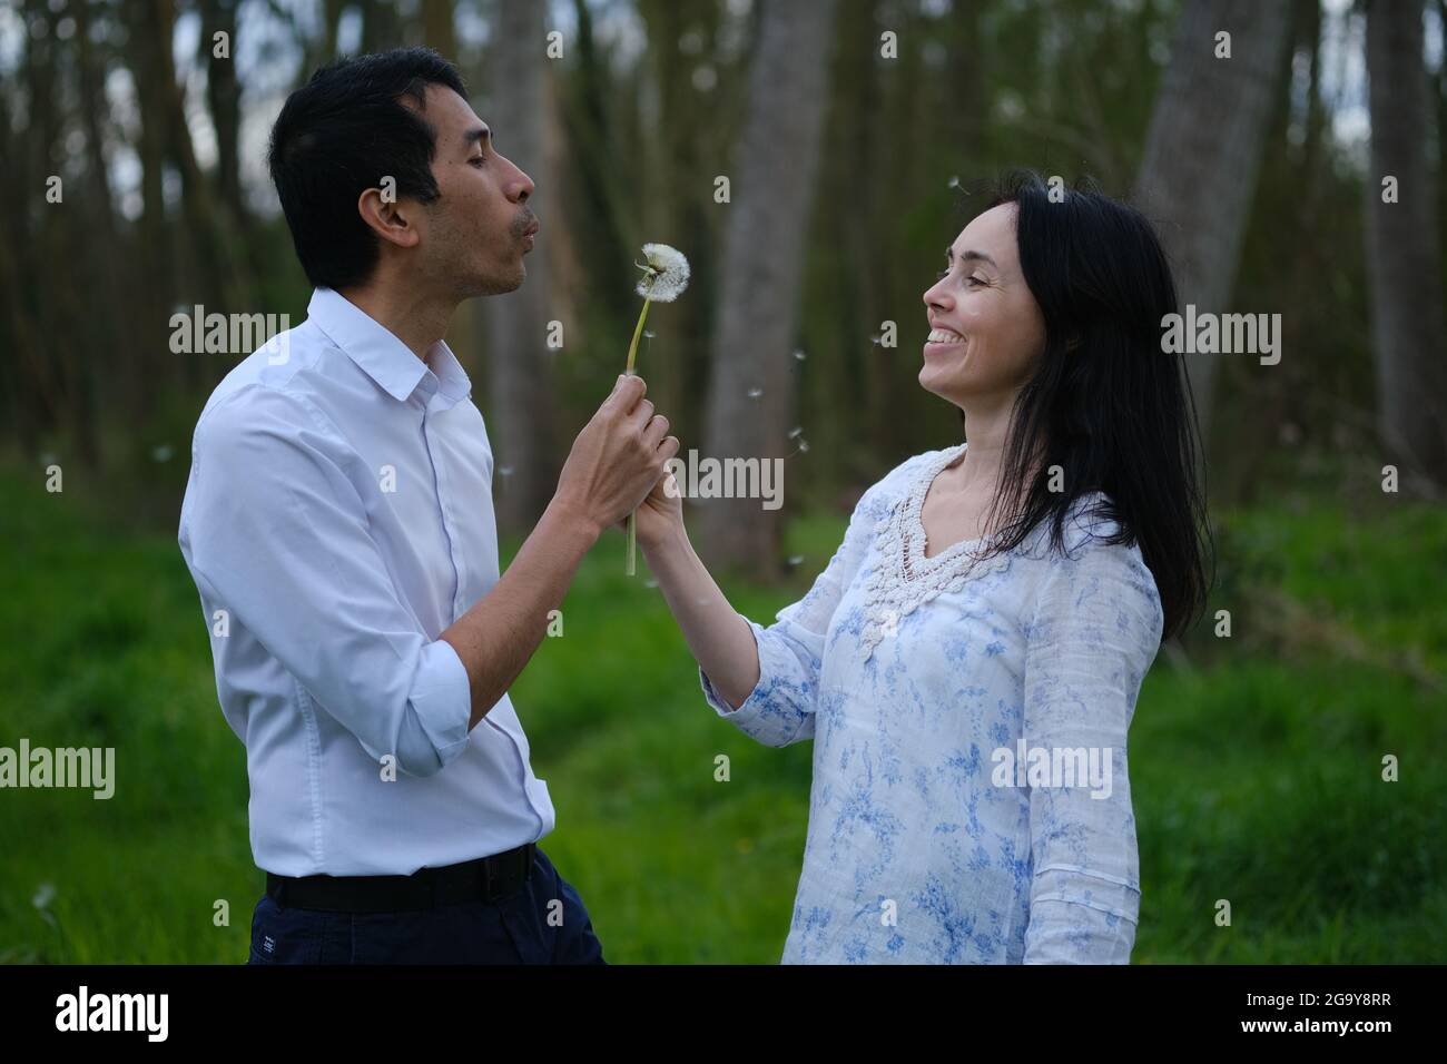
<path id="1" fill-rule="evenodd" d="M 550 185 L 550 175 L 544 172 L 550 101 L 544 14 L 543 4 L 532 0 L 502 0 L 491 62 L 489 124 L 498 132 L 502 152 L 537 185 L 531 206 L 544 226 L 537 248 L 525 259 L 528 276 L 522 287 L 483 301 L 488 430 L 496 455 L 498 527 L 514 533 L 527 531 L 537 523 L 557 486 L 554 397 L 548 387 L 551 350 L 547 346 L 547 323 L 554 317 L 547 226 L 556 219 L 550 219 L 550 211 L 538 203 Z M 576 339 L 564 333 L 564 346 Z"/>

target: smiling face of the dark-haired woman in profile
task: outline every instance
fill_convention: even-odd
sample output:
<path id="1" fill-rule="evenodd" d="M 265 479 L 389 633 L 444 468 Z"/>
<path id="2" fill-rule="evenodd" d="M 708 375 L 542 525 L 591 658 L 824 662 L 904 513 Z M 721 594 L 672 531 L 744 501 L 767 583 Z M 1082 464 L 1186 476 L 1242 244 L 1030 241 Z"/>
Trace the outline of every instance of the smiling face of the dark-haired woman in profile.
<path id="1" fill-rule="evenodd" d="M 1045 349 L 1045 318 L 1020 274 L 1013 203 L 977 217 L 925 292 L 930 324 L 919 382 L 956 407 L 1013 400 Z"/>

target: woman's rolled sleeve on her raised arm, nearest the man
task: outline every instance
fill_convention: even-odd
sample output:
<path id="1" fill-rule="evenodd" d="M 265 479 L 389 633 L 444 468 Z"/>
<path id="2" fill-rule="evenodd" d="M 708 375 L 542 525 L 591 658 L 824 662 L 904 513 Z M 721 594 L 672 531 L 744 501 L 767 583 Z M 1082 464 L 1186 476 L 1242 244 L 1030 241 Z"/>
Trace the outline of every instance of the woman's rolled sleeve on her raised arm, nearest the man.
<path id="1" fill-rule="evenodd" d="M 888 511 L 890 485 L 904 466 L 864 494 L 849 517 L 844 541 L 807 595 L 780 609 L 767 628 L 748 621 L 758 646 L 758 683 L 738 709 L 729 706 L 699 669 L 705 701 L 719 717 L 764 746 L 783 747 L 813 738 L 829 622 L 868 553 L 880 520 Z"/>

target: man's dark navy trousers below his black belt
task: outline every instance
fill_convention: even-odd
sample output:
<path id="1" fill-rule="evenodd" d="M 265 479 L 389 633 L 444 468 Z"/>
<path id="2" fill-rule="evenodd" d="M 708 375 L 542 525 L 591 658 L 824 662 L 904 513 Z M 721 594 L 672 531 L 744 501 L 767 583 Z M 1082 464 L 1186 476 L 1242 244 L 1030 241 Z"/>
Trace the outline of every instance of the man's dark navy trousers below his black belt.
<path id="1" fill-rule="evenodd" d="M 501 902 L 420 912 L 281 908 L 262 895 L 247 964 L 606 964 L 583 899 L 543 850 Z"/>

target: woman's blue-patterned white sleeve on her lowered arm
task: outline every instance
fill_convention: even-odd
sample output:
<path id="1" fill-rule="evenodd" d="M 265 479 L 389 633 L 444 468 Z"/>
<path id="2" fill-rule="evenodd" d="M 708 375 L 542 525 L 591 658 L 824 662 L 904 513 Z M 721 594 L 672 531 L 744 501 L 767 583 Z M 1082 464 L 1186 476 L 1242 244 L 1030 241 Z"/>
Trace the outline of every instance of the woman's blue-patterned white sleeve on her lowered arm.
<path id="1" fill-rule="evenodd" d="M 1026 964 L 1130 961 L 1140 871 L 1126 735 L 1160 628 L 1155 580 L 1134 549 L 1092 540 L 1042 578 L 1024 659 L 1024 743 L 1052 764 L 1074 764 L 1075 777 L 1030 788 Z M 1079 772 L 1090 764 L 1094 777 Z"/>

